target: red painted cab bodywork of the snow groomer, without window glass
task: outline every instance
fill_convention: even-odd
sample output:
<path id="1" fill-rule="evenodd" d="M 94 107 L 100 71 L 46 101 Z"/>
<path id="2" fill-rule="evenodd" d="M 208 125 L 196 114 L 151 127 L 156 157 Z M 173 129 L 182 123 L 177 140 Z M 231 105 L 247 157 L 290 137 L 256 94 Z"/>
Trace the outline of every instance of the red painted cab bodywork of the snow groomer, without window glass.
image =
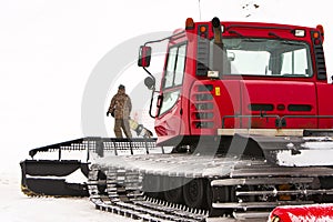
<path id="1" fill-rule="evenodd" d="M 333 85 L 317 78 L 316 56 L 311 37 L 315 29 L 273 23 L 221 23 L 224 30 L 222 38 L 281 38 L 285 41 L 306 42 L 311 51 L 313 74 L 307 78 L 225 74 L 219 79 L 198 75 L 196 60 L 204 52 L 199 52 L 202 50 L 199 42 L 204 38 L 212 39 L 213 31 L 210 22 L 196 22 L 194 29 L 185 30 L 184 36 L 169 42 L 169 48 L 186 43 L 186 59 L 183 82 L 178 88 L 179 101 L 155 119 L 158 142 L 175 137 L 216 135 L 220 128 L 333 128 L 333 118 L 329 117 L 333 115 L 333 105 L 329 102 Z M 198 36 L 199 26 L 208 28 L 206 34 Z M 229 29 L 236 31 L 236 34 L 228 32 Z M 293 31 L 295 29 L 304 30 L 305 36 L 296 37 Z M 199 85 L 208 85 L 209 89 L 200 91 Z M 169 90 L 161 87 L 163 94 Z M 278 125 L 276 118 L 284 122 L 280 121 Z"/>

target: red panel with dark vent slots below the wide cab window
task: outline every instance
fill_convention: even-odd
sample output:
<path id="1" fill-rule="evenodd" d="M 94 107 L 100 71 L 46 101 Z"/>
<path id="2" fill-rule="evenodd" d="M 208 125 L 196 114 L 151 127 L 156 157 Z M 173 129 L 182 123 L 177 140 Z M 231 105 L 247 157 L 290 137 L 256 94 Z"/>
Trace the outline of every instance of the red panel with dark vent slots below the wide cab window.
<path id="1" fill-rule="evenodd" d="M 251 110 L 251 105 L 270 105 L 272 110 L 264 111 L 268 115 L 316 115 L 316 91 L 312 82 L 244 80 L 241 81 L 242 114 L 260 115 L 260 111 Z M 310 110 L 293 111 L 292 105 L 309 105 Z M 302 107 L 301 107 L 302 108 Z M 275 128 L 274 119 L 254 118 L 248 120 L 241 128 Z M 291 119 L 286 128 L 312 129 L 317 128 L 316 119 Z"/>

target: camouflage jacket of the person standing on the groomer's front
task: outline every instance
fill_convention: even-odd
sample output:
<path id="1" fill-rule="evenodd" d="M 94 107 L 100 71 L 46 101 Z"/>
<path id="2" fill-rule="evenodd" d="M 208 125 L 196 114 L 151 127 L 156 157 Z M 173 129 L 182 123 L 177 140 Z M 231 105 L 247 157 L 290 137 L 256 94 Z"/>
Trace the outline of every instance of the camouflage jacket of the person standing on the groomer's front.
<path id="1" fill-rule="evenodd" d="M 109 112 L 114 111 L 114 119 L 129 119 L 132 110 L 132 102 L 130 97 L 122 90 L 118 90 L 117 94 L 113 95 Z"/>

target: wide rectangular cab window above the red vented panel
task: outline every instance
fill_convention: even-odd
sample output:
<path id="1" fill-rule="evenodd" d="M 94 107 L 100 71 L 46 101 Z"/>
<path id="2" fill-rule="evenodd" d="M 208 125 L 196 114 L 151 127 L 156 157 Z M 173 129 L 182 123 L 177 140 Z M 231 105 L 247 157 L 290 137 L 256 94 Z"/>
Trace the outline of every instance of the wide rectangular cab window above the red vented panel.
<path id="1" fill-rule="evenodd" d="M 311 77 L 310 48 L 282 39 L 223 39 L 222 74 Z"/>

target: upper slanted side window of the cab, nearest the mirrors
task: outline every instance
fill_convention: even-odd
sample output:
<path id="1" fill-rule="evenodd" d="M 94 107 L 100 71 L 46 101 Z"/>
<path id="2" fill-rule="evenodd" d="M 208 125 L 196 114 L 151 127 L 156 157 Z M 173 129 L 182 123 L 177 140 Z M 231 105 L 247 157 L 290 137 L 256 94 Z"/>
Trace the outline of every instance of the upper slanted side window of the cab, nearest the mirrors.
<path id="1" fill-rule="evenodd" d="M 163 88 L 178 87 L 183 83 L 186 58 L 186 44 L 170 48 Z"/>

